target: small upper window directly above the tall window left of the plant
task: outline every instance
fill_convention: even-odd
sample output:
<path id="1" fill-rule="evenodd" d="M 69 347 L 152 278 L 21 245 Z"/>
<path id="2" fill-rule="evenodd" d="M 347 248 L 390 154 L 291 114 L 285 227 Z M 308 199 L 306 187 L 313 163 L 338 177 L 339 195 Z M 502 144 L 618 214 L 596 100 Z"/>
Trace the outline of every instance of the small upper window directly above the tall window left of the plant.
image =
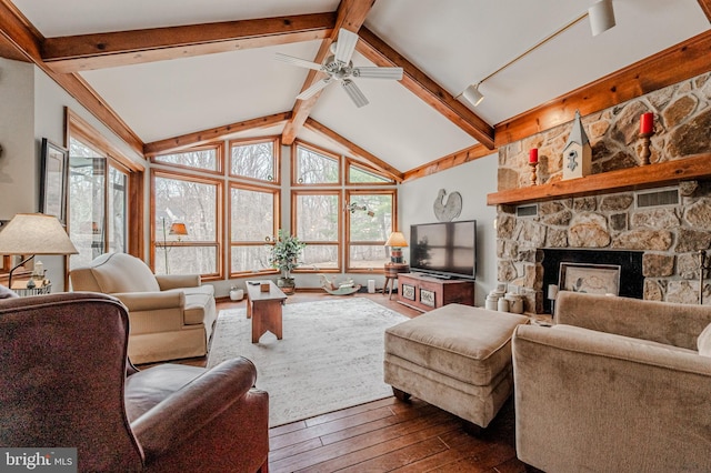
<path id="1" fill-rule="evenodd" d="M 230 175 L 279 182 L 279 140 L 230 142 Z"/>

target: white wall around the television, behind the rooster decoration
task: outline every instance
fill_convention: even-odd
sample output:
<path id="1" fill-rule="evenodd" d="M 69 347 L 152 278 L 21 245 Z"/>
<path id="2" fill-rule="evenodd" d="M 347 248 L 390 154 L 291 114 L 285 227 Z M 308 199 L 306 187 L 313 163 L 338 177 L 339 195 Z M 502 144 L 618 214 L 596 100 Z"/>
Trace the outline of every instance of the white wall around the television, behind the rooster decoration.
<path id="1" fill-rule="evenodd" d="M 400 231 L 410 235 L 413 223 L 437 222 L 433 204 L 437 193 L 459 192 L 462 213 L 455 220 L 477 220 L 477 305 L 484 305 L 487 293 L 497 285 L 497 208 L 487 205 L 487 194 L 497 191 L 499 155 L 490 154 L 467 164 L 402 184 L 398 195 Z M 447 198 L 445 198 L 447 199 Z M 409 252 L 405 252 L 409 259 Z"/>

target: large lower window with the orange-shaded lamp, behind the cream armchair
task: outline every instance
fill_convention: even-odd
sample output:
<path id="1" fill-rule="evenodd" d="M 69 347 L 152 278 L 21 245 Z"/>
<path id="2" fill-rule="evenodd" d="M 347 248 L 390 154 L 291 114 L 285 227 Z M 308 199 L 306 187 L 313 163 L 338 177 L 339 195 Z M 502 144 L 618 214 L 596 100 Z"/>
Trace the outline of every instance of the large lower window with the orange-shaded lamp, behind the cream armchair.
<path id="1" fill-rule="evenodd" d="M 152 262 L 157 274 L 222 275 L 222 182 L 153 170 Z M 184 225 L 187 234 L 178 229 Z"/>

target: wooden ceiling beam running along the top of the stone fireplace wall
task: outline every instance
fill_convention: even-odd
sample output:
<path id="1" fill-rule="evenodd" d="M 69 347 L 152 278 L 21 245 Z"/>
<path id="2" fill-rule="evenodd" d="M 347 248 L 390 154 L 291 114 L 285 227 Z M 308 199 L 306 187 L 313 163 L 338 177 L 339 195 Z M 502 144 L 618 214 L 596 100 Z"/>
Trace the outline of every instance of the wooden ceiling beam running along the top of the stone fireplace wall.
<path id="1" fill-rule="evenodd" d="M 495 125 L 502 147 L 711 70 L 711 30 Z"/>

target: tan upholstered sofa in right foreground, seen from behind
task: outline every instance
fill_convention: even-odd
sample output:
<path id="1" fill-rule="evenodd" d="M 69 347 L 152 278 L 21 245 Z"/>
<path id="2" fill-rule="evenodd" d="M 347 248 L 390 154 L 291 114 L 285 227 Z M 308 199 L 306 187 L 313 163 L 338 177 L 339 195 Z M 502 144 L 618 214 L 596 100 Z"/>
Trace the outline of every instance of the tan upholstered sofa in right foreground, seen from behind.
<path id="1" fill-rule="evenodd" d="M 561 292 L 512 338 L 517 454 L 548 473 L 711 471 L 711 306 Z"/>

